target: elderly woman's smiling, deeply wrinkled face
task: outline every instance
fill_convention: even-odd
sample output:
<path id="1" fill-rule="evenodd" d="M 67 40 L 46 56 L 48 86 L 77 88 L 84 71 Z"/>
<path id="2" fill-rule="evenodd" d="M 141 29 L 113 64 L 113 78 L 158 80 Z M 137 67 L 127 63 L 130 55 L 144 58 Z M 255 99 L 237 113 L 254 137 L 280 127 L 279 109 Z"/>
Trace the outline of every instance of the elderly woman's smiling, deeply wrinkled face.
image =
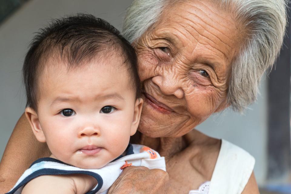
<path id="1" fill-rule="evenodd" d="M 139 131 L 182 136 L 225 109 L 231 64 L 242 40 L 231 15 L 209 3 L 167 8 L 135 47 L 145 101 Z"/>

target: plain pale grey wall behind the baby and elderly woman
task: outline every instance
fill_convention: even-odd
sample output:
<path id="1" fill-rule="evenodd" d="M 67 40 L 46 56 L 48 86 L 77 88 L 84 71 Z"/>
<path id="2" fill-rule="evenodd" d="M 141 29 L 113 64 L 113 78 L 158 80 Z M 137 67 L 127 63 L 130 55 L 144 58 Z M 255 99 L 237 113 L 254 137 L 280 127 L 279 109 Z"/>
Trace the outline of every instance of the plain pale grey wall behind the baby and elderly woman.
<path id="1" fill-rule="evenodd" d="M 123 12 L 132 0 L 31 0 L 0 25 L 0 157 L 15 123 L 24 111 L 21 68 L 33 32 L 51 18 L 86 12 L 121 28 Z M 245 116 L 229 110 L 212 116 L 197 129 L 246 149 L 256 158 L 259 183 L 266 176 L 266 89 Z M 19 145 L 21 146 L 21 145 Z"/>

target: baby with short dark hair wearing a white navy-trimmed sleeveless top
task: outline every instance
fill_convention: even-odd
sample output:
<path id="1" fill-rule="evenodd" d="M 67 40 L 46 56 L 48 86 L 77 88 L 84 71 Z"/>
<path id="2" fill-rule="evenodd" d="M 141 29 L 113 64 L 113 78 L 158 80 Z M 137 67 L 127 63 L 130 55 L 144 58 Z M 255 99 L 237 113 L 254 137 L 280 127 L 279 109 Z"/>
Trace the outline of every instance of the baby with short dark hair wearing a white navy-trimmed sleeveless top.
<path id="1" fill-rule="evenodd" d="M 122 169 L 166 170 L 152 149 L 129 144 L 142 111 L 136 55 L 92 15 L 55 20 L 33 39 L 23 65 L 25 115 L 52 155 L 10 193 L 106 193 Z"/>

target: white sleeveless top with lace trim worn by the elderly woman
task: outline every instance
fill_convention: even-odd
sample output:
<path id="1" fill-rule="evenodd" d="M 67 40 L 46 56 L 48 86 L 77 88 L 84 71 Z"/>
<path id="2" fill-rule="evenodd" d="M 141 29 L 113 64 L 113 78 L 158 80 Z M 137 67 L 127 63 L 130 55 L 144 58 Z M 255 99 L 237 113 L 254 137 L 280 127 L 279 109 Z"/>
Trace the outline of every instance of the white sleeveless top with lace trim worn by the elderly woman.
<path id="1" fill-rule="evenodd" d="M 211 181 L 189 194 L 241 194 L 253 172 L 255 159 L 240 147 L 222 139 Z"/>

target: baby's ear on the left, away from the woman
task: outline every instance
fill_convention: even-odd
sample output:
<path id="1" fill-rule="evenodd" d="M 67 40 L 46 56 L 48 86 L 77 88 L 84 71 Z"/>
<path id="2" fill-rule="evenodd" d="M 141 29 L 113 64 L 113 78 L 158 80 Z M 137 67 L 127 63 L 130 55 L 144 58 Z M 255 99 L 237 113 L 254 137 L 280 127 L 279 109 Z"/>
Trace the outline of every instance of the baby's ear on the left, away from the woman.
<path id="1" fill-rule="evenodd" d="M 32 132 L 35 135 L 36 139 L 39 142 L 45 142 L 45 135 L 42 131 L 42 126 L 39 123 L 37 113 L 30 107 L 27 107 L 25 109 L 25 116 L 32 128 Z"/>

